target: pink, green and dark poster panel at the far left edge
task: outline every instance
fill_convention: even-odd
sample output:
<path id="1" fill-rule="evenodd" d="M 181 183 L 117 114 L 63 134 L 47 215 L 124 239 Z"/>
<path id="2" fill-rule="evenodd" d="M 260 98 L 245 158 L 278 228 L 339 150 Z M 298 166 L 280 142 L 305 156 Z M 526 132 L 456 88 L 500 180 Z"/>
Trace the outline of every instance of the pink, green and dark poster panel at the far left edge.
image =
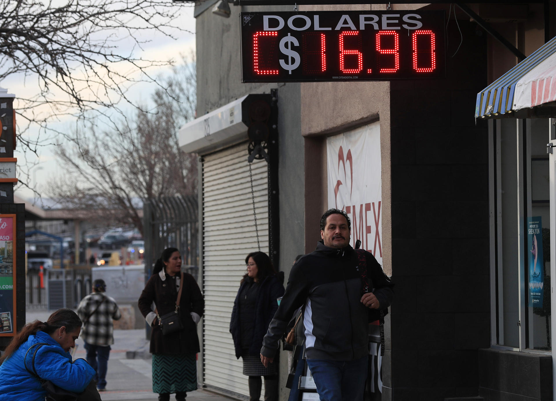
<path id="1" fill-rule="evenodd" d="M 15 215 L 0 214 L 0 336 L 13 335 L 16 321 L 14 285 Z"/>

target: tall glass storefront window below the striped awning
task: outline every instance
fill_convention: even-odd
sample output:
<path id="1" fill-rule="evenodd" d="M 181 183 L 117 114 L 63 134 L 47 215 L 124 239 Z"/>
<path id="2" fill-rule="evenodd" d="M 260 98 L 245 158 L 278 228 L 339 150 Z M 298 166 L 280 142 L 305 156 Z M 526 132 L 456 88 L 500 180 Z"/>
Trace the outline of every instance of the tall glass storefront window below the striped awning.
<path id="1" fill-rule="evenodd" d="M 489 127 L 493 344 L 550 350 L 549 121 Z"/>

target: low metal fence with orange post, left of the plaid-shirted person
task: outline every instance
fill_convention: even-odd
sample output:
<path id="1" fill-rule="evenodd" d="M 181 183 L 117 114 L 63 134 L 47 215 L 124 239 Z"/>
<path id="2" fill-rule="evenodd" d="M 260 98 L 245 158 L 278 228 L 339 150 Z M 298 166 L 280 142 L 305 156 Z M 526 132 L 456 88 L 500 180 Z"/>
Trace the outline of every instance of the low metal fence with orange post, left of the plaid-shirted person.
<path id="1" fill-rule="evenodd" d="M 47 270 L 42 283 L 39 272 L 27 272 L 26 308 L 75 309 L 91 289 L 91 270 L 88 269 Z"/>

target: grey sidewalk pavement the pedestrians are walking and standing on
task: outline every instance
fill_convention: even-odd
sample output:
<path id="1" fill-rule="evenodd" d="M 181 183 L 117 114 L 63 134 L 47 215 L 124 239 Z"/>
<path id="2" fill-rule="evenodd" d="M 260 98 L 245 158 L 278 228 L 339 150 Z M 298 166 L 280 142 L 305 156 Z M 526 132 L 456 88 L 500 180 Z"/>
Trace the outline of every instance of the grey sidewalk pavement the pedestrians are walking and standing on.
<path id="1" fill-rule="evenodd" d="M 32 322 L 39 319 L 44 322 L 52 312 L 29 309 L 26 311 L 26 320 Z M 114 344 L 108 359 L 106 391 L 100 393 L 102 401 L 158 400 L 158 394 L 152 392 L 152 364 L 148 345 L 145 330 L 114 330 Z M 85 358 L 81 338 L 76 341 L 74 359 L 76 358 Z M 229 401 L 230 398 L 200 389 L 187 393 L 187 400 Z"/>

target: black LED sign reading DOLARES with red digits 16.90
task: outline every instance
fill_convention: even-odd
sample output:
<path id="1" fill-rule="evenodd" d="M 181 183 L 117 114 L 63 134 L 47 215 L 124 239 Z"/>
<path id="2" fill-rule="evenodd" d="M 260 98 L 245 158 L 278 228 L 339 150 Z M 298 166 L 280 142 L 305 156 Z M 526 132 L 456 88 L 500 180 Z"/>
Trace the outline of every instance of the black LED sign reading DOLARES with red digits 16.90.
<path id="1" fill-rule="evenodd" d="M 241 13 L 243 82 L 445 77 L 444 11 Z"/>

